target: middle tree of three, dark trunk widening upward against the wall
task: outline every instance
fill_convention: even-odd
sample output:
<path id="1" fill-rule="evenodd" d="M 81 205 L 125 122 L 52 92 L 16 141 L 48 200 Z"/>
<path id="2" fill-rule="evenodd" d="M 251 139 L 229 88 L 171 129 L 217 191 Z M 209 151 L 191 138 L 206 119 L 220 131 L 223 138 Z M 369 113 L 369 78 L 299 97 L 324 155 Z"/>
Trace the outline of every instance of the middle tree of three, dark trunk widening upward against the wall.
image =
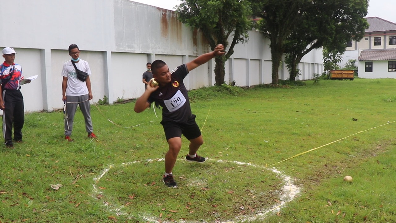
<path id="1" fill-rule="evenodd" d="M 270 39 L 272 84 L 278 84 L 279 66 L 286 49 L 286 40 L 305 13 L 310 0 L 252 0 L 253 15 L 262 19 L 257 28 Z"/>

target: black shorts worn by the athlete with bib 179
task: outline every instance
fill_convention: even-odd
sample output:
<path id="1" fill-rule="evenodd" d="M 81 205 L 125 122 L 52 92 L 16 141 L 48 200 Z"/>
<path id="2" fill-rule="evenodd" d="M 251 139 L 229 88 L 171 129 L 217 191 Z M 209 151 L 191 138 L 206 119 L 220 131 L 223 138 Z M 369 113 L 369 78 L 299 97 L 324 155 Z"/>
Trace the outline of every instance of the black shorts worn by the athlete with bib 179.
<path id="1" fill-rule="evenodd" d="M 169 138 L 174 137 L 181 138 L 181 134 L 183 134 L 188 140 L 201 136 L 201 130 L 195 122 L 195 117 L 195 115 L 191 115 L 186 123 L 161 121 L 161 125 L 164 127 L 166 140 L 168 141 Z"/>

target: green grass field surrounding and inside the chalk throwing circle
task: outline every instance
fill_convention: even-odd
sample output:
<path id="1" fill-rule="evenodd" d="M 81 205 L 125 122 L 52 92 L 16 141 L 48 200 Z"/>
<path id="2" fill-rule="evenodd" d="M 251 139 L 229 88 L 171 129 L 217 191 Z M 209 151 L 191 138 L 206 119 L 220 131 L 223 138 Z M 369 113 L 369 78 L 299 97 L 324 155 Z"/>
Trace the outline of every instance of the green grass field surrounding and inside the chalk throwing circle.
<path id="1" fill-rule="evenodd" d="M 395 86 L 355 79 L 192 90 L 205 141 L 198 154 L 209 159 L 183 161 L 183 138 L 175 189 L 162 183 L 160 111 L 91 106 L 98 138 L 86 137 L 78 111 L 71 143 L 62 112 L 27 114 L 25 142 L 0 147 L 0 222 L 396 222 Z M 299 188 L 286 203 L 285 177 Z"/>

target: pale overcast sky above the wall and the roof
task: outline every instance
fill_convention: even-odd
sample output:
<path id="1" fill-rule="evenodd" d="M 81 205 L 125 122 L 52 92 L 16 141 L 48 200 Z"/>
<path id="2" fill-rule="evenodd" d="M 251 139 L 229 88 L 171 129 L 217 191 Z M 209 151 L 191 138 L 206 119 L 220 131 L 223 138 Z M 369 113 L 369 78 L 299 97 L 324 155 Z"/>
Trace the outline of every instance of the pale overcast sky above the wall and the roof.
<path id="1" fill-rule="evenodd" d="M 181 3 L 180 0 L 133 0 L 164 9 L 175 10 L 173 7 Z M 370 0 L 367 17 L 380 17 L 396 23 L 396 0 Z"/>

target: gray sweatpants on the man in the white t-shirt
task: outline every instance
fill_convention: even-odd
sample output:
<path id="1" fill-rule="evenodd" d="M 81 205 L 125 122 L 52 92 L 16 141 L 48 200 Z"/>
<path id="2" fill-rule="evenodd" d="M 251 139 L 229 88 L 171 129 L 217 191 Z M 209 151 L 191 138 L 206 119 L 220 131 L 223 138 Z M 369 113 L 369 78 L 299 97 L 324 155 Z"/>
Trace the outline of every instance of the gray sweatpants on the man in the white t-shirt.
<path id="1" fill-rule="evenodd" d="M 73 129 L 74 115 L 76 114 L 77 105 L 84 115 L 85 129 L 87 133 L 93 132 L 90 105 L 88 94 L 82 96 L 66 96 L 66 119 L 65 119 L 65 135 L 71 135 Z"/>

